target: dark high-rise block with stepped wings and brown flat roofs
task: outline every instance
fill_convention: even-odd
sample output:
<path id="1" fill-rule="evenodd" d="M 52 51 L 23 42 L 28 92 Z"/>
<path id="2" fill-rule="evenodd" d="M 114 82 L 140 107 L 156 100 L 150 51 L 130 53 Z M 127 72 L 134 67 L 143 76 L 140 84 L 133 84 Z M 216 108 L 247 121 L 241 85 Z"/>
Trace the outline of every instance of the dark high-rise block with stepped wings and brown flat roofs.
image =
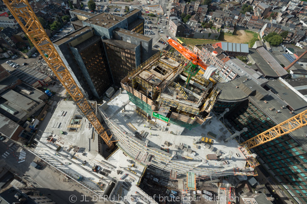
<path id="1" fill-rule="evenodd" d="M 89 98 L 101 98 L 151 57 L 152 39 L 144 33 L 140 10 L 123 16 L 70 11 L 75 32 L 54 42 L 59 55 L 79 87 Z"/>

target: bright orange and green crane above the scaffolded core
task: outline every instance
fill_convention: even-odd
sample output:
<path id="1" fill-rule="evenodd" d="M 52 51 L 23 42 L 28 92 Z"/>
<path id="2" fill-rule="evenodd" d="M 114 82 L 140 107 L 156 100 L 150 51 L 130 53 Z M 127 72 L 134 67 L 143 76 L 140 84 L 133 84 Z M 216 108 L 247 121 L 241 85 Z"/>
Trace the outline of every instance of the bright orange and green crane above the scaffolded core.
<path id="1" fill-rule="evenodd" d="M 191 50 L 185 48 L 184 46 L 182 46 L 180 43 L 176 42 L 175 40 L 170 38 L 169 40 L 167 40 L 167 42 L 173 48 L 175 48 L 181 55 L 183 55 L 187 60 L 190 61 L 189 64 L 187 64 L 185 68 L 185 72 L 188 73 L 188 77 L 187 77 L 187 81 L 184 87 L 187 87 L 187 85 L 189 84 L 191 80 L 191 76 L 195 76 L 196 73 L 198 73 L 201 68 L 206 70 L 208 65 L 204 64 L 197 55 L 191 52 Z"/>

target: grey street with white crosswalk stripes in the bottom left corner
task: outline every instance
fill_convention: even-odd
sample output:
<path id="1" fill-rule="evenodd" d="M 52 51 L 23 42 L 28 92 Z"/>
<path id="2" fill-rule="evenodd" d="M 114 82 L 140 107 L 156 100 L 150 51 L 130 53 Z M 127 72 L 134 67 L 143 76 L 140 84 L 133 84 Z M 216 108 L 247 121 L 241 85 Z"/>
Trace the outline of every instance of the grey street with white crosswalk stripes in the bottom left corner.
<path id="1" fill-rule="evenodd" d="M 64 175 L 52 167 L 40 163 L 43 168 L 38 170 L 31 166 L 33 161 L 40 161 L 40 159 L 27 149 L 14 143 L 11 145 L 11 143 L 13 142 L 8 139 L 0 141 L 0 165 L 22 177 L 25 183 L 30 183 L 56 203 L 71 203 L 69 200 L 71 195 L 75 195 L 77 200 L 81 200 L 82 195 L 91 198 L 87 189 L 82 189 L 82 186 L 74 181 L 64 182 Z M 88 203 L 96 202 L 89 201 Z"/>

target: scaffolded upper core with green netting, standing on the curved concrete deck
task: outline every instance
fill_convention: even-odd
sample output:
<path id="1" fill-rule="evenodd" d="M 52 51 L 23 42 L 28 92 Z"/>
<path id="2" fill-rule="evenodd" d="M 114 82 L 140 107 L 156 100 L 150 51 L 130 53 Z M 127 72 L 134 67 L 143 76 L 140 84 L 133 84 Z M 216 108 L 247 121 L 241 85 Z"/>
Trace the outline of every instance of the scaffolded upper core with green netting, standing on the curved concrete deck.
<path id="1" fill-rule="evenodd" d="M 149 121 L 169 126 L 175 135 L 183 128 L 204 123 L 214 106 L 220 89 L 201 75 L 191 76 L 185 86 L 188 73 L 187 61 L 172 53 L 161 52 L 147 60 L 121 81 L 121 86 L 137 105 L 137 112 Z"/>

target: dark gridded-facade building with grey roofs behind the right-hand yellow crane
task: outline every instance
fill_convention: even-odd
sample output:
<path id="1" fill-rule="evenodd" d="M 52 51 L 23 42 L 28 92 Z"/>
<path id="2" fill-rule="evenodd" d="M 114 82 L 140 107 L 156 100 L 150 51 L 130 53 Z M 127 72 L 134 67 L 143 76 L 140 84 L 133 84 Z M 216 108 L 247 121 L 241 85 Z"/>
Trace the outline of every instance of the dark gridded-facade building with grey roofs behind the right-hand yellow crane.
<path id="1" fill-rule="evenodd" d="M 284 80 L 270 80 L 262 88 L 241 77 L 218 84 L 222 93 L 214 107 L 216 113 L 226 108 L 224 116 L 233 130 L 244 127 L 240 142 L 248 140 L 307 109 L 307 99 Z M 276 138 L 253 149 L 257 160 L 298 202 L 307 202 L 307 127 Z"/>

